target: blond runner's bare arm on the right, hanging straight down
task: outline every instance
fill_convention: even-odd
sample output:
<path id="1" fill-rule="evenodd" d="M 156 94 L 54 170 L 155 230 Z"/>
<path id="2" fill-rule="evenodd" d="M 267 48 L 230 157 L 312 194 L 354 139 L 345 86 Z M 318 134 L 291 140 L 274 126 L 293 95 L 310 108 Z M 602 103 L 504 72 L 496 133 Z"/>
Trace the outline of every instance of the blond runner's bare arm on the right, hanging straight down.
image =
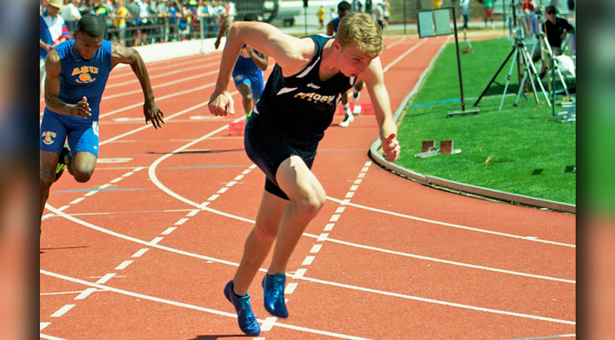
<path id="1" fill-rule="evenodd" d="M 393 121 L 389 92 L 387 92 L 384 86 L 384 75 L 380 58 L 376 57 L 371 61 L 362 78 L 365 80 L 368 93 L 370 93 L 371 104 L 374 108 L 376 121 L 378 121 L 385 159 L 388 162 L 394 162 L 399 158 L 400 146 L 395 138 L 397 136 L 397 124 Z"/>

